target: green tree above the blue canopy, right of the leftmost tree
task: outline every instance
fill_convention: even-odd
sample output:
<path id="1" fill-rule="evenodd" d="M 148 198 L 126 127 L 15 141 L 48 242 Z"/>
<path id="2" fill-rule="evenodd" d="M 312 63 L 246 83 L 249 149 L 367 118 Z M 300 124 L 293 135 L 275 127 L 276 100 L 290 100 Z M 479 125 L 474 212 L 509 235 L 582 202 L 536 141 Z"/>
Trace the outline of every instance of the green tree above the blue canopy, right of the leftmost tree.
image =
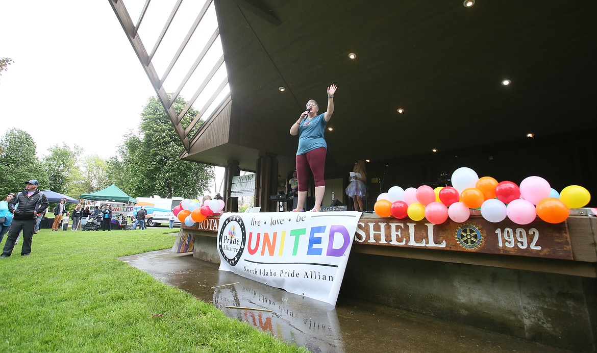
<path id="1" fill-rule="evenodd" d="M 68 186 L 76 181 L 75 178 L 79 174 L 76 173 L 78 170 L 76 163 L 82 149 L 75 145 L 71 150 L 69 146 L 63 144 L 61 147 L 54 145 L 48 151 L 50 155 L 44 157 L 42 162 L 50 180 L 49 189 L 66 194 Z"/>

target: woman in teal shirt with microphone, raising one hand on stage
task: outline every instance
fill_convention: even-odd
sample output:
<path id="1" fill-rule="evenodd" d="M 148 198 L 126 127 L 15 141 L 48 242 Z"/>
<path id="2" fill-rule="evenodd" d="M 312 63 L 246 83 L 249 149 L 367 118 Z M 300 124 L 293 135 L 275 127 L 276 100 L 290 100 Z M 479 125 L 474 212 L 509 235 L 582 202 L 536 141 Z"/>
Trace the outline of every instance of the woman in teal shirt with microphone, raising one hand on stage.
<path id="1" fill-rule="evenodd" d="M 293 212 L 303 211 L 304 201 L 307 197 L 307 179 L 309 171 L 315 179 L 315 207 L 310 212 L 317 212 L 321 208 L 324 198 L 325 182 L 325 154 L 328 145 L 325 143 L 325 125 L 334 113 L 334 93 L 336 85 L 328 87 L 328 110 L 318 114 L 319 105 L 315 100 L 307 102 L 307 110 L 301 113 L 300 118 L 290 127 L 292 136 L 298 135 L 297 149 L 297 177 L 298 177 L 298 202 Z"/>

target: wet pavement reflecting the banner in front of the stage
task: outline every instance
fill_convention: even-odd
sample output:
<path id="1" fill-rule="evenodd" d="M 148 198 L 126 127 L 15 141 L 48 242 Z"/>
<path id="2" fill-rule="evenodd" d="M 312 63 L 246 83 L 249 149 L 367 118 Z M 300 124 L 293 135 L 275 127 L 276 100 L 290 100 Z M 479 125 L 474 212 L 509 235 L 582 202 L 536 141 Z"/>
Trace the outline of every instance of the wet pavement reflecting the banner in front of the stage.
<path id="1" fill-rule="evenodd" d="M 219 265 L 170 249 L 120 259 L 213 303 L 231 318 L 313 352 L 566 352 L 374 303 L 339 297 L 334 307 L 219 271 Z"/>

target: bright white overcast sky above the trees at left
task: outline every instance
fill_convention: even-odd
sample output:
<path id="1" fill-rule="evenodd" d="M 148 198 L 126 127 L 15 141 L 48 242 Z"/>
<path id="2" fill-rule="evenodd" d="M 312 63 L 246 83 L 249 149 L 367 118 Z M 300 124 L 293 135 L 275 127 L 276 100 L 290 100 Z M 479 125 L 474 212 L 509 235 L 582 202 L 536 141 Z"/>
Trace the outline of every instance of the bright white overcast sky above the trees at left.
<path id="1" fill-rule="evenodd" d="M 40 157 L 62 143 L 115 155 L 155 91 L 109 2 L 0 0 L 0 9 L 0 57 L 14 60 L 0 76 L 0 135 L 27 131 Z"/>

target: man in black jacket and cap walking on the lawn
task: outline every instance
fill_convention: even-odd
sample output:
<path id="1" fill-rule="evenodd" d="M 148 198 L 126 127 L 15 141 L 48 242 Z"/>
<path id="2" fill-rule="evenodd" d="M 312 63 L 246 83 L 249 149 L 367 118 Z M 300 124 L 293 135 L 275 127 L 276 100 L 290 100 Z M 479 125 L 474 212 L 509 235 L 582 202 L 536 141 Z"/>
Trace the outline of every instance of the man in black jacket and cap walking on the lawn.
<path id="1" fill-rule="evenodd" d="M 21 230 L 23 231 L 21 256 L 27 256 L 31 253 L 31 240 L 33 239 L 36 218 L 49 205 L 48 198 L 37 189 L 38 185 L 37 180 L 29 180 L 25 183 L 25 189 L 8 202 L 8 210 L 14 215 L 13 223 L 10 225 L 10 232 L 8 232 L 8 238 L 0 257 L 8 257 L 13 253 L 14 243 L 17 241 Z M 19 204 L 19 207 L 15 208 L 17 204 Z"/>

